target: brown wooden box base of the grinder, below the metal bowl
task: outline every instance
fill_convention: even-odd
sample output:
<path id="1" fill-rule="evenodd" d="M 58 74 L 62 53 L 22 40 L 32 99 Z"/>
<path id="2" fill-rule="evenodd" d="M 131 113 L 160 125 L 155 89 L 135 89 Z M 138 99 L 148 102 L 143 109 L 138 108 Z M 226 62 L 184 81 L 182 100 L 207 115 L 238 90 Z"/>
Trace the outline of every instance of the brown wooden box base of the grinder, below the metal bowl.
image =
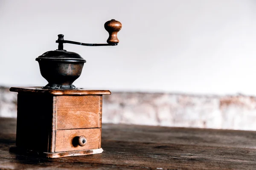
<path id="1" fill-rule="evenodd" d="M 103 90 L 11 88 L 18 92 L 16 146 L 47 158 L 102 153 Z"/>

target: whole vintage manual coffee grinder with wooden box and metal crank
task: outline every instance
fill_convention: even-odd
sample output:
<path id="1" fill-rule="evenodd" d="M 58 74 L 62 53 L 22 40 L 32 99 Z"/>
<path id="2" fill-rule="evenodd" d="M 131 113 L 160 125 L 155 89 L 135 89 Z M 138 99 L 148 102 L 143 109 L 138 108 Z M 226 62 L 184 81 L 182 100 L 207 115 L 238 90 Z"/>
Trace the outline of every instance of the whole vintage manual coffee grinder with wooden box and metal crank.
<path id="1" fill-rule="evenodd" d="M 87 44 L 64 40 L 59 34 L 58 49 L 47 51 L 38 61 L 44 87 L 12 87 L 17 95 L 16 149 L 48 158 L 102 153 L 102 95 L 108 90 L 76 88 L 86 62 L 79 54 L 63 49 L 64 43 L 86 46 L 114 46 L 122 24 L 105 23 L 107 44 Z"/>

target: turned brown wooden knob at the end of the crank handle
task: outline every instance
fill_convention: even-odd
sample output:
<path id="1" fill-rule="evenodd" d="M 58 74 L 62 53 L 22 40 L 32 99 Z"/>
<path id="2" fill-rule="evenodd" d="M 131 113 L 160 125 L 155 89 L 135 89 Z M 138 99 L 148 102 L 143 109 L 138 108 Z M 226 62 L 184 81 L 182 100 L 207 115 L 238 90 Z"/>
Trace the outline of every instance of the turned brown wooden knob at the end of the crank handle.
<path id="1" fill-rule="evenodd" d="M 116 20 L 110 20 L 104 24 L 104 27 L 108 31 L 108 34 L 109 34 L 107 42 L 108 43 L 118 43 L 119 40 L 117 38 L 117 33 L 118 33 L 118 31 L 121 30 L 122 23 L 120 23 L 119 21 L 116 21 Z"/>

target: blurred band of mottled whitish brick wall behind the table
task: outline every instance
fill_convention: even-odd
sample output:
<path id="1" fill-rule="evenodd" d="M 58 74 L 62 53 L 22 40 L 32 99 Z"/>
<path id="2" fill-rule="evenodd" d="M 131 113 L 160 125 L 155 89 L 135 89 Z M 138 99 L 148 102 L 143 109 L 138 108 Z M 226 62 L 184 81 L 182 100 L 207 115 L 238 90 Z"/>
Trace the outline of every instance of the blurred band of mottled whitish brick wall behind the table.
<path id="1" fill-rule="evenodd" d="M 0 88 L 0 116 L 16 117 L 17 94 Z M 114 92 L 103 98 L 104 123 L 256 130 L 256 98 Z"/>

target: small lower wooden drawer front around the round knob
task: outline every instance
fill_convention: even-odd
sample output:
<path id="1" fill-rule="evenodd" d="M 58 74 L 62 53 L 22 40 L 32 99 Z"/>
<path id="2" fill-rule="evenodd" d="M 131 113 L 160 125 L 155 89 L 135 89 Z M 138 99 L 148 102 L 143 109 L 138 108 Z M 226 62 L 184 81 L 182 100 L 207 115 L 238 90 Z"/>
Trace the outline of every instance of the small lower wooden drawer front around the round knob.
<path id="1" fill-rule="evenodd" d="M 86 143 L 82 147 L 78 144 L 79 136 L 85 136 L 86 139 Z M 57 130 L 55 152 L 98 149 L 99 137 L 100 128 Z"/>

